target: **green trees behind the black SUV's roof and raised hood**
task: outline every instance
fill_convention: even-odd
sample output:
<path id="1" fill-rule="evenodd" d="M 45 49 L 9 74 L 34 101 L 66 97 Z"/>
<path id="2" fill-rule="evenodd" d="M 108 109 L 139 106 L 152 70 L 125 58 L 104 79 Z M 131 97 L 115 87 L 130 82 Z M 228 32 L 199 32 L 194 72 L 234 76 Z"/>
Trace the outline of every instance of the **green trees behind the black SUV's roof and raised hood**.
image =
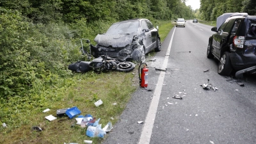
<path id="1" fill-rule="evenodd" d="M 223 13 L 245 12 L 256 15 L 255 0 L 200 0 L 200 18 L 216 20 Z"/>

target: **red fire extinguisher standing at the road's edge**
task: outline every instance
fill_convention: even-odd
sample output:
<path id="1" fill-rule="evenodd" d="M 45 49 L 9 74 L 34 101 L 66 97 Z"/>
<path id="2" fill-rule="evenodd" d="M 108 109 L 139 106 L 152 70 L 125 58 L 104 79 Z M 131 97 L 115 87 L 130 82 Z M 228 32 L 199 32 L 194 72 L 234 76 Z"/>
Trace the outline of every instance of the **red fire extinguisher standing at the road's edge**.
<path id="1" fill-rule="evenodd" d="M 145 64 L 143 68 L 141 68 L 141 65 Z M 141 70 L 140 70 L 141 68 Z M 140 79 L 140 87 L 142 88 L 147 88 L 148 86 L 148 68 L 146 63 L 140 63 L 139 66 L 139 79 Z"/>

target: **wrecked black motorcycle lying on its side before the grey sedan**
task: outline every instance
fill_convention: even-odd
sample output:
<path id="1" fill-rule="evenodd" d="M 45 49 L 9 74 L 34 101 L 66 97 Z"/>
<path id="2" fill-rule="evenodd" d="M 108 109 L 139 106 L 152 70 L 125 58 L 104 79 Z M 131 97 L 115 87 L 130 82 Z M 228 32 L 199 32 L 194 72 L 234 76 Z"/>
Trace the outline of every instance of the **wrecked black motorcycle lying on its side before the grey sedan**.
<path id="1" fill-rule="evenodd" d="M 83 47 L 82 40 L 86 40 L 86 43 L 89 44 L 90 40 L 81 39 L 81 52 L 88 56 L 88 59 L 91 59 L 91 54 L 89 54 L 86 49 Z M 90 47 L 90 45 L 89 45 Z M 74 72 L 88 72 L 93 70 L 98 74 L 102 71 L 117 70 L 119 72 L 131 72 L 135 68 L 135 64 L 130 61 L 118 61 L 115 58 L 110 58 L 108 56 L 102 55 L 99 58 L 95 58 L 92 61 L 77 61 L 68 65 L 68 70 Z"/>

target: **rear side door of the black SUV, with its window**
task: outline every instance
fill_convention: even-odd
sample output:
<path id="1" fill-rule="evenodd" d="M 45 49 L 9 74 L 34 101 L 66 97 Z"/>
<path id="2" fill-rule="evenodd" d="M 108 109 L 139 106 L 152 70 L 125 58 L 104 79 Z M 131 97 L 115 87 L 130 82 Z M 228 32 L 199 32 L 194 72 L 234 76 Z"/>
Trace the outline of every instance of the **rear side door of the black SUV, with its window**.
<path id="1" fill-rule="evenodd" d="M 216 42 L 216 55 L 218 56 L 218 58 L 221 57 L 221 48 L 223 48 L 223 46 L 227 44 L 227 40 L 229 38 L 230 31 L 233 28 L 234 22 L 234 19 L 226 20 L 224 22 L 227 23 L 225 28 L 220 27 L 220 31 L 218 31 L 218 39 Z"/>

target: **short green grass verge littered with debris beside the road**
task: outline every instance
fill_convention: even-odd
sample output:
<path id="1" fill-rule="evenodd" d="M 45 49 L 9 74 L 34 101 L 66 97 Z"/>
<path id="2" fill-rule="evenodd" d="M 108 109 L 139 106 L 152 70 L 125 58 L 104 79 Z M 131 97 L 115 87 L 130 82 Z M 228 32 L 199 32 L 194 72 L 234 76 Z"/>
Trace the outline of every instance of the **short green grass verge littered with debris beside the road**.
<path id="1" fill-rule="evenodd" d="M 159 22 L 161 42 L 172 27 L 171 22 Z M 154 54 L 150 52 L 148 57 Z M 109 121 L 114 125 L 132 93 L 139 87 L 137 72 L 138 65 L 129 73 L 74 73 L 71 77 L 57 77 L 54 85 L 45 88 L 40 95 L 9 99 L 0 111 L 0 124 L 4 122 L 7 125 L 6 128 L 0 127 L 0 143 L 83 143 L 84 140 L 100 143 L 102 139 L 86 136 L 86 129 L 76 125 L 75 118 L 62 116 L 49 122 L 45 116 L 56 116 L 57 109 L 77 106 L 81 115 L 100 118 L 102 127 Z M 40 87 L 40 81 L 37 86 Z M 94 102 L 99 99 L 103 104 L 96 107 Z M 51 111 L 42 113 L 47 108 Z M 43 131 L 31 131 L 33 126 L 41 127 Z"/>

